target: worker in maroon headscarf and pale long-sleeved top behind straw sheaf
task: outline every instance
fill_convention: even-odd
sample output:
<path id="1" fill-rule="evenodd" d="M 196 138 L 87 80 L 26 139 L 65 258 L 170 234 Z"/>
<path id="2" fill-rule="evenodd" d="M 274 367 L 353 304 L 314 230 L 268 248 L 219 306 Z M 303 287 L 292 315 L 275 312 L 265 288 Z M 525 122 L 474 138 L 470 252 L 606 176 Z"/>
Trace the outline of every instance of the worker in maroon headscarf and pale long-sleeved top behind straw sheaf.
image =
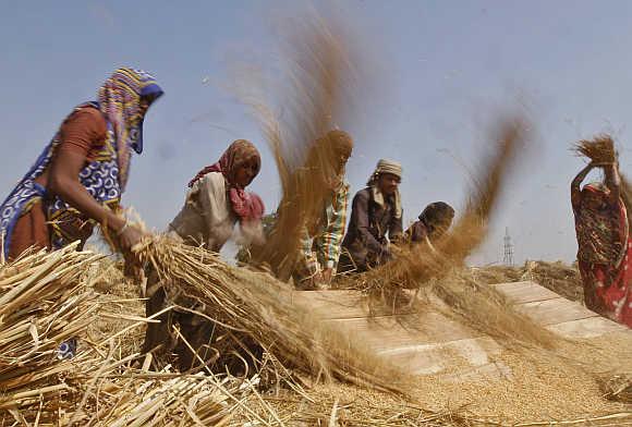
<path id="1" fill-rule="evenodd" d="M 245 191 L 260 170 L 260 156 L 255 146 L 245 139 L 232 143 L 215 164 L 200 170 L 189 183 L 186 199 L 180 213 L 169 225 L 169 235 L 190 245 L 204 245 L 219 252 L 239 222 L 241 234 L 251 242 L 262 244 L 262 217 L 264 204 L 259 196 Z M 167 295 L 156 272 L 149 272 L 146 303 L 147 316 L 171 304 L 185 307 L 160 315 L 160 324 L 148 324 L 144 352 L 154 352 L 159 359 L 174 353 L 175 365 L 187 370 L 199 364 L 197 356 L 178 338 L 173 327 L 198 356 L 209 361 L 216 353 L 210 347 L 217 325 L 192 314 L 199 310 L 196 302 L 178 295 Z M 190 310 L 191 309 L 191 310 Z M 171 361 L 168 361 L 171 362 Z"/>

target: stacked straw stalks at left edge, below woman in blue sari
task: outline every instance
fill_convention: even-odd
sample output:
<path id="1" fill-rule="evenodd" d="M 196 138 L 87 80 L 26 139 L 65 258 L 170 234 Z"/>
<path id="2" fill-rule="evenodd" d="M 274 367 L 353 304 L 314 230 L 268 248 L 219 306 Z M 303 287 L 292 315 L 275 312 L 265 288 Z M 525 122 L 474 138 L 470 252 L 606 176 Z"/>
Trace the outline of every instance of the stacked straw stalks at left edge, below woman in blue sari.
<path id="1" fill-rule="evenodd" d="M 58 361 L 57 350 L 96 316 L 88 282 L 80 279 L 100 257 L 71 245 L 52 254 L 25 254 L 0 267 L 0 408 L 38 406 L 42 396 L 68 392 L 66 385 L 56 382 L 72 364 Z M 56 385 L 46 387 L 49 382 Z"/>

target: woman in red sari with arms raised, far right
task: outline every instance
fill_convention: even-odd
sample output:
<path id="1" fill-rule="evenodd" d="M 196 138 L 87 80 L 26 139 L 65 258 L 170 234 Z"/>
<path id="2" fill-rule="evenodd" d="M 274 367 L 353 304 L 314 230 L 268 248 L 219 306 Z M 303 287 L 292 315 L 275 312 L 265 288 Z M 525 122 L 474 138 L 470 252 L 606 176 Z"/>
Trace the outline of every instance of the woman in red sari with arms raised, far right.
<path id="1" fill-rule="evenodd" d="M 605 183 L 580 184 L 601 167 Z M 586 307 L 632 328 L 632 239 L 617 163 L 586 166 L 571 184 Z"/>

